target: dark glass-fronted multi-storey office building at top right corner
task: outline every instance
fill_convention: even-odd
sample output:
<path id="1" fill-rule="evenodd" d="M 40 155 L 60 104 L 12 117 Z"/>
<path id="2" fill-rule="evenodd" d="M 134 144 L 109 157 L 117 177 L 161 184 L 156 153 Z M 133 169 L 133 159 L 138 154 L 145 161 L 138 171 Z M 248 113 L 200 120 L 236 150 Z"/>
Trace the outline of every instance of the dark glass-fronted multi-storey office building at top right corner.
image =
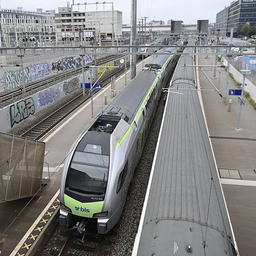
<path id="1" fill-rule="evenodd" d="M 216 15 L 215 32 L 230 36 L 234 29 L 234 37 L 238 37 L 237 29 L 245 23 L 256 26 L 256 0 L 236 0 Z"/>

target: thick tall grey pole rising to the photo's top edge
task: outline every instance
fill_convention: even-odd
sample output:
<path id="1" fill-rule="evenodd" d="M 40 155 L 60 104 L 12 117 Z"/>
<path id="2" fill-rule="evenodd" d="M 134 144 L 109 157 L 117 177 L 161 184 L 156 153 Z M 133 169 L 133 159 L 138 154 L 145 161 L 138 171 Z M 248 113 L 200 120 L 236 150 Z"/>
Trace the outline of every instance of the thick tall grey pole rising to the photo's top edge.
<path id="1" fill-rule="evenodd" d="M 136 45 L 136 20 L 137 20 L 137 0 L 131 0 L 131 46 Z M 131 53 L 135 53 L 136 49 L 130 48 Z M 136 55 L 130 55 L 130 73 L 131 79 L 136 76 Z"/>

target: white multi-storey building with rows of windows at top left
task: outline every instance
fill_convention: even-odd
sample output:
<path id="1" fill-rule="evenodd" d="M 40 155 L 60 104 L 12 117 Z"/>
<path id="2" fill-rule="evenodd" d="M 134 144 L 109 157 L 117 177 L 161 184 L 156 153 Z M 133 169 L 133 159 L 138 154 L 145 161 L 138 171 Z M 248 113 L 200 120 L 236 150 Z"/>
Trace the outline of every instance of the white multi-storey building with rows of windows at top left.
<path id="1" fill-rule="evenodd" d="M 51 11 L 25 11 L 22 9 L 0 9 L 1 44 L 14 46 L 17 41 L 37 40 L 55 34 L 55 17 Z M 47 25 L 49 24 L 49 25 Z M 50 26 L 52 24 L 52 26 Z"/>

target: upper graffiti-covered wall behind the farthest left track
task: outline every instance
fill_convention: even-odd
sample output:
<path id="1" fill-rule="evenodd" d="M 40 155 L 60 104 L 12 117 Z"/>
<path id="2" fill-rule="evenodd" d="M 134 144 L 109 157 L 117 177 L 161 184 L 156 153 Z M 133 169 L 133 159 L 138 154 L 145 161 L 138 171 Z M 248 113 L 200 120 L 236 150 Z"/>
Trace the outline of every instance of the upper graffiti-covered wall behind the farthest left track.
<path id="1" fill-rule="evenodd" d="M 89 64 L 93 61 L 93 55 L 88 54 L 84 56 L 85 64 Z M 82 66 L 81 56 L 70 56 L 59 59 L 52 58 L 47 62 L 38 63 L 26 63 L 24 62 L 24 75 L 25 81 L 27 83 L 32 83 L 40 79 L 47 78 L 52 75 L 60 74 L 62 72 L 67 72 L 71 69 L 76 69 Z M 26 66 L 27 64 L 27 66 Z M 21 85 L 22 75 L 20 67 L 6 67 L 6 73 L 3 69 L 0 69 L 0 80 L 6 82 L 0 82 L 0 92 L 9 90 L 11 88 L 16 88 L 17 84 Z M 17 84 L 15 84 L 15 82 Z"/>

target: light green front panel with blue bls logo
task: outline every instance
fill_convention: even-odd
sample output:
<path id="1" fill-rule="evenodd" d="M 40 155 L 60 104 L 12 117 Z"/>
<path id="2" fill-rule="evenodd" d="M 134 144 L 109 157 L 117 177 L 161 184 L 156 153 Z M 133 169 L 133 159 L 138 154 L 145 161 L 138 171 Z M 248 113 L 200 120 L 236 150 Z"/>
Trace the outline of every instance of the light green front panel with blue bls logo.
<path id="1" fill-rule="evenodd" d="M 92 218 L 94 213 L 99 213 L 102 210 L 104 201 L 91 202 L 91 203 L 81 203 L 72 197 L 64 194 L 65 206 L 69 207 L 73 214 Z"/>

